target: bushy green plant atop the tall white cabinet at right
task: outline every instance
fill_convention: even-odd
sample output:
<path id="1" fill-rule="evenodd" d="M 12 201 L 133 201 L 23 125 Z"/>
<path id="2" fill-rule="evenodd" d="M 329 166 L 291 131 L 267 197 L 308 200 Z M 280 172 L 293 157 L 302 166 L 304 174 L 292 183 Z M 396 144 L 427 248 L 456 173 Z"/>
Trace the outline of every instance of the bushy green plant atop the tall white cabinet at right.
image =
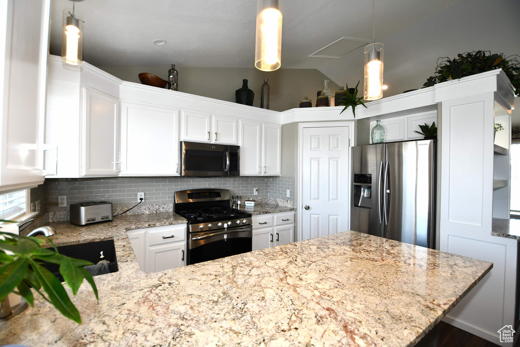
<path id="1" fill-rule="evenodd" d="M 505 57 L 501 54 L 491 54 L 489 50 L 474 50 L 458 54 L 457 58 L 440 57 L 437 59 L 435 75 L 430 76 L 423 88 L 431 87 L 440 82 L 460 79 L 480 72 L 502 69 L 515 88 L 516 96 L 520 96 L 520 61 L 518 56 Z"/>

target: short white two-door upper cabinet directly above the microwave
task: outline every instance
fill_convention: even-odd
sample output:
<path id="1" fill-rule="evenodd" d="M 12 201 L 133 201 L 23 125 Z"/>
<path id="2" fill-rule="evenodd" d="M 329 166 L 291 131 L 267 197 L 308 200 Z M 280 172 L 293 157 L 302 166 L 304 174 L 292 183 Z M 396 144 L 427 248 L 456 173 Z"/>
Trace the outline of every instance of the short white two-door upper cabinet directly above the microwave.
<path id="1" fill-rule="evenodd" d="M 180 140 L 236 145 L 237 119 L 196 111 L 181 111 Z"/>

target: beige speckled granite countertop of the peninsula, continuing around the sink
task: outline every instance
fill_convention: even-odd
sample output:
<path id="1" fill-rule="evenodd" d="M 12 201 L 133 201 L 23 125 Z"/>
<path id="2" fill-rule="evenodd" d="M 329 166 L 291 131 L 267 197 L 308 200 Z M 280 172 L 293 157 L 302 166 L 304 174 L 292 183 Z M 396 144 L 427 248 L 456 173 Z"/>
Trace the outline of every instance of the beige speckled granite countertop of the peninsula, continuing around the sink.
<path id="1" fill-rule="evenodd" d="M 492 264 L 358 232 L 289 243 L 147 274 L 126 230 L 179 224 L 172 212 L 77 227 L 57 245 L 114 238 L 119 272 L 72 301 L 83 324 L 36 299 L 0 323 L 3 344 L 30 346 L 410 346 Z M 69 291 L 70 293 L 70 291 Z"/>

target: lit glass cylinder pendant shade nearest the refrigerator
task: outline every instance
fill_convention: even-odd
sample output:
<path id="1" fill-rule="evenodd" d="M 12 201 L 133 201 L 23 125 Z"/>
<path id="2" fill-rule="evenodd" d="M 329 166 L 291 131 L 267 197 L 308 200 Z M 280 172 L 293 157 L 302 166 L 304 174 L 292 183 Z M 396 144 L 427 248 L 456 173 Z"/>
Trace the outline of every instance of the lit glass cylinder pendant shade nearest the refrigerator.
<path id="1" fill-rule="evenodd" d="M 383 44 L 371 43 L 365 47 L 365 85 L 363 99 L 383 97 Z"/>

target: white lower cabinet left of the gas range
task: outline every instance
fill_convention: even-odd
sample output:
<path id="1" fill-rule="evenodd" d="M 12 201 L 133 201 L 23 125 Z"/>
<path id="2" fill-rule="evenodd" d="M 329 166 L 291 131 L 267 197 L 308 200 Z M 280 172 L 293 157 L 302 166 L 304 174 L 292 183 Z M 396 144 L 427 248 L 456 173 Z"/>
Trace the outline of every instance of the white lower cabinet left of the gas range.
<path id="1" fill-rule="evenodd" d="M 186 224 L 130 230 L 127 235 L 142 271 L 186 265 Z"/>

